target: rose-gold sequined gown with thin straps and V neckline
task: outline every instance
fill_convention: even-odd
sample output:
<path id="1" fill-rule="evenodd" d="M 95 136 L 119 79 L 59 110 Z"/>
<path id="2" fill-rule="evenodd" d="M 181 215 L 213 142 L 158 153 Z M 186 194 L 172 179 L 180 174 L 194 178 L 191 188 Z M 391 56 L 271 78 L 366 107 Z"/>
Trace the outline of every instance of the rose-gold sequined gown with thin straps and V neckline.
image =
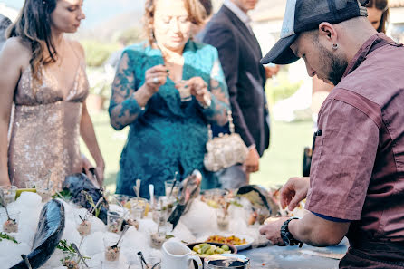
<path id="1" fill-rule="evenodd" d="M 8 171 L 10 178 L 15 171 L 17 187 L 51 171 L 53 187 L 60 188 L 65 176 L 82 170 L 80 121 L 89 84 L 82 64 L 67 96 L 51 72 L 41 68 L 38 74 L 42 82 L 34 82 L 32 69 L 27 67 L 14 93 Z"/>

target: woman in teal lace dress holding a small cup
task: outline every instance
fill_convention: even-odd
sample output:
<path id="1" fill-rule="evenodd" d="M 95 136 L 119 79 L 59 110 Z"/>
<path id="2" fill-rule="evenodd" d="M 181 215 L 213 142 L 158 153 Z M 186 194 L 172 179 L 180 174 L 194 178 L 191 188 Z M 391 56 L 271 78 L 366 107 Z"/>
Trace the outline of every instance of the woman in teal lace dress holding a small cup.
<path id="1" fill-rule="evenodd" d="M 164 181 L 199 169 L 202 187 L 217 187 L 204 169 L 207 124 L 226 124 L 226 80 L 214 47 L 190 40 L 203 21 L 198 0 L 148 0 L 149 43 L 127 47 L 112 86 L 111 125 L 130 126 L 120 158 L 117 193 L 149 197 L 149 184 L 164 195 Z M 181 99 L 179 91 L 190 92 Z M 182 93 L 181 93 L 182 94 Z"/>

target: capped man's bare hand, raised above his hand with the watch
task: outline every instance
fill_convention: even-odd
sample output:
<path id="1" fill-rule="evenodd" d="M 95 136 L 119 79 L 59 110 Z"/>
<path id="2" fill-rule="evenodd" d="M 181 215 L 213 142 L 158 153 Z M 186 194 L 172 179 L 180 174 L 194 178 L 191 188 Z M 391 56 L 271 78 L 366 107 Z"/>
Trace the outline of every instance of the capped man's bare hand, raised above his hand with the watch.
<path id="1" fill-rule="evenodd" d="M 310 178 L 290 178 L 281 188 L 281 206 L 293 210 L 307 196 Z"/>

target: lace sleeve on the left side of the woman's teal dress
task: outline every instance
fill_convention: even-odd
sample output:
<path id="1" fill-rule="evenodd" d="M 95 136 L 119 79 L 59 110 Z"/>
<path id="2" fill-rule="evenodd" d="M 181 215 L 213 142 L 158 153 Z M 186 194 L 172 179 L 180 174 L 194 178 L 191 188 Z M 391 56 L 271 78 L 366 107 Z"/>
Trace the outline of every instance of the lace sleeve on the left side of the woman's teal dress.
<path id="1" fill-rule="evenodd" d="M 112 83 L 109 108 L 111 126 L 115 130 L 122 130 L 138 119 L 143 112 L 133 94 L 137 90 L 133 68 L 134 65 L 131 64 L 130 55 L 127 52 L 122 53 L 115 79 Z"/>

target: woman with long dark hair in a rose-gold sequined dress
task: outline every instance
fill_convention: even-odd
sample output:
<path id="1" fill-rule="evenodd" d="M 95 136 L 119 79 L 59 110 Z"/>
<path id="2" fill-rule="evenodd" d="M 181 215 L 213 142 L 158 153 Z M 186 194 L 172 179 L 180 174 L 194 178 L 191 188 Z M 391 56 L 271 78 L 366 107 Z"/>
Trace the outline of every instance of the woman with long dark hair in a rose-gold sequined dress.
<path id="1" fill-rule="evenodd" d="M 0 185 L 14 178 L 13 185 L 25 187 L 50 173 L 53 186 L 61 187 L 65 176 L 82 171 L 80 136 L 102 181 L 104 161 L 84 102 L 84 53 L 64 37 L 84 18 L 82 0 L 25 0 L 8 29 L 0 54 Z"/>

